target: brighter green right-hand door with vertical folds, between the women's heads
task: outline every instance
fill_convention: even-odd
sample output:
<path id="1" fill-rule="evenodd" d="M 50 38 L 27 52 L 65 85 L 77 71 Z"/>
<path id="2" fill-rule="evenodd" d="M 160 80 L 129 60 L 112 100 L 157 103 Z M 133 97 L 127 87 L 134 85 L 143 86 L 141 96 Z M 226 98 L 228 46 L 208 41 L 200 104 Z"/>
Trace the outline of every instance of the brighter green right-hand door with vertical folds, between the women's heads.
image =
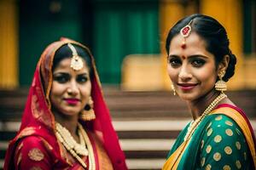
<path id="1" fill-rule="evenodd" d="M 119 84 L 128 54 L 159 54 L 159 2 L 98 0 L 94 3 L 93 54 L 101 81 Z"/>

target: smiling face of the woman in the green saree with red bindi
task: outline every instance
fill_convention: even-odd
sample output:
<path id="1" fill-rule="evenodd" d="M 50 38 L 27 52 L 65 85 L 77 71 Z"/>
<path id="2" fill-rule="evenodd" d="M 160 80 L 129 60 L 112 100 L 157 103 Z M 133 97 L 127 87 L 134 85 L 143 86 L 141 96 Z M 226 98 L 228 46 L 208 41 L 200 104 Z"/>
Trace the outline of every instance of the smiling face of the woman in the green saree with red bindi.
<path id="1" fill-rule="evenodd" d="M 186 37 L 178 34 L 170 44 L 167 71 L 181 99 L 193 101 L 207 94 L 217 79 L 214 55 L 206 49 L 206 42 L 194 32 Z"/>

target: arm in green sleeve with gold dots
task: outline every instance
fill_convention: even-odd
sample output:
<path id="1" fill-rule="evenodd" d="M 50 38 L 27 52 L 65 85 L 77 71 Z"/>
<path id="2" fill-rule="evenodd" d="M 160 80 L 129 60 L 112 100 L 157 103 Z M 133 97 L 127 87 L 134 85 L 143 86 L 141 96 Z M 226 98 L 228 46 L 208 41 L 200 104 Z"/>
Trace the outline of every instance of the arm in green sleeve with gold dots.
<path id="1" fill-rule="evenodd" d="M 228 116 L 217 116 L 201 141 L 202 169 L 246 169 L 248 146 L 241 128 Z"/>

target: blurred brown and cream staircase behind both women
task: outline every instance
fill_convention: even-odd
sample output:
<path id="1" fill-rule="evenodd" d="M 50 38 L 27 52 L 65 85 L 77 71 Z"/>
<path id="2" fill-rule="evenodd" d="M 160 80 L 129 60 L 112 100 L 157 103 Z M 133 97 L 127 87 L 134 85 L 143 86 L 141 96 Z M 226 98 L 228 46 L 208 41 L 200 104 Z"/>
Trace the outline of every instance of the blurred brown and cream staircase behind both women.
<path id="1" fill-rule="evenodd" d="M 0 90 L 0 169 L 9 139 L 20 127 L 28 90 Z M 185 103 L 171 92 L 124 92 L 103 88 L 113 126 L 129 169 L 160 169 L 177 134 L 189 122 Z M 256 91 L 227 93 L 247 113 L 256 130 Z"/>

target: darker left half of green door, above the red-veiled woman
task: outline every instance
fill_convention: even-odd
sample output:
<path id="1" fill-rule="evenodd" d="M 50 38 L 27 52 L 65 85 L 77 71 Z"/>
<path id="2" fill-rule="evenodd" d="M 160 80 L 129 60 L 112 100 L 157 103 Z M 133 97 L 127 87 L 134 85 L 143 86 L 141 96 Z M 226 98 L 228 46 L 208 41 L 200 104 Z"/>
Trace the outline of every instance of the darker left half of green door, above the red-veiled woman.
<path id="1" fill-rule="evenodd" d="M 20 1 L 20 86 L 32 82 L 38 59 L 50 42 L 69 37 L 84 42 L 79 0 Z M 90 17 L 89 15 L 83 18 Z M 85 32 L 86 33 L 86 32 Z"/>

